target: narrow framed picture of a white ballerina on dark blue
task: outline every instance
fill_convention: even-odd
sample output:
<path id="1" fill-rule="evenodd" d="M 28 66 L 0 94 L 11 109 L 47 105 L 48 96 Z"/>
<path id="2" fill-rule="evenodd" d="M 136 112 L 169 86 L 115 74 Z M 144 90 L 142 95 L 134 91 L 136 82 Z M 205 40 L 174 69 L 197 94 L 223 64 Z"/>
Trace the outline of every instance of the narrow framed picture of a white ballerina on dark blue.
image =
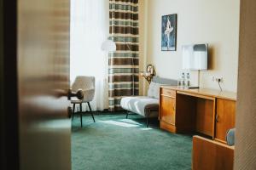
<path id="1" fill-rule="evenodd" d="M 161 50 L 176 51 L 177 42 L 177 14 L 162 16 Z"/>

